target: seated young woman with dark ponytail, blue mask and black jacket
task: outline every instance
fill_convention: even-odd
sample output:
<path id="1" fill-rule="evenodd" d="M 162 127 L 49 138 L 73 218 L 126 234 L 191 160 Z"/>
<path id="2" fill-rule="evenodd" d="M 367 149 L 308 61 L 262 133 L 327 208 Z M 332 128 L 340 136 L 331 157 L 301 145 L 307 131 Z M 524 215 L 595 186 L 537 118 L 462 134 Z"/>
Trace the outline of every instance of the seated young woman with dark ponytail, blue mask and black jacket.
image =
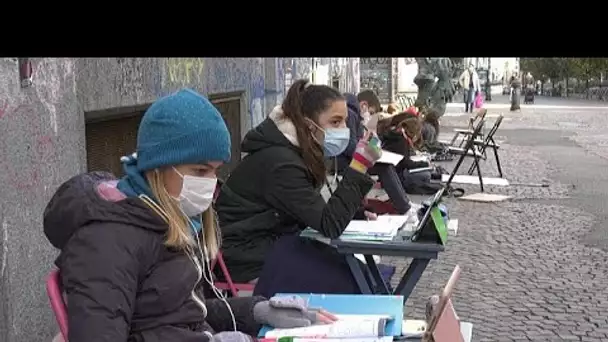
<path id="1" fill-rule="evenodd" d="M 339 237 L 374 184 L 366 172 L 380 158 L 379 141 L 363 139 L 331 198 L 321 196 L 325 158 L 348 144 L 346 115 L 337 90 L 298 80 L 245 136 L 248 155 L 222 186 L 216 210 L 230 274 L 241 283 L 259 277 L 255 294 L 358 292 L 342 255 L 298 236 L 310 227 Z"/>

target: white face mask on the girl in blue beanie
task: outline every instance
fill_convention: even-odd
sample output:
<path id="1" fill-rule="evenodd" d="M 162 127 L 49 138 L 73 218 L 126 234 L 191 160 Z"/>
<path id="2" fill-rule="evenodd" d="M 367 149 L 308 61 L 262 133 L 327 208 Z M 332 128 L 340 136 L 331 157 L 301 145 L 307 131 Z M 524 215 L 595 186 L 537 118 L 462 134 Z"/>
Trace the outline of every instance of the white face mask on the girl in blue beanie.
<path id="1" fill-rule="evenodd" d="M 194 217 L 203 213 L 211 206 L 217 178 L 195 177 L 182 175 L 176 168 L 173 170 L 182 177 L 182 191 L 177 200 L 184 214 Z"/>

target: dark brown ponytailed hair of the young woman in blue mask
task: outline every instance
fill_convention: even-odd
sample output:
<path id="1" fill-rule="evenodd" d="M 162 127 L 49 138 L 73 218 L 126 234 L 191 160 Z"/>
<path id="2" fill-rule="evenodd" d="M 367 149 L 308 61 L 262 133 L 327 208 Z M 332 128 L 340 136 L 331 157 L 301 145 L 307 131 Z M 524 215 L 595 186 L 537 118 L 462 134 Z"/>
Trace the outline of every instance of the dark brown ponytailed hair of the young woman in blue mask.
<path id="1" fill-rule="evenodd" d="M 326 85 L 310 84 L 308 80 L 301 79 L 291 85 L 281 106 L 284 115 L 296 128 L 302 158 L 316 186 L 325 182 L 325 156 L 323 146 L 313 138 L 311 123 L 307 119 L 318 122 L 319 114 L 338 100 L 343 101 L 344 97 L 336 89 Z"/>

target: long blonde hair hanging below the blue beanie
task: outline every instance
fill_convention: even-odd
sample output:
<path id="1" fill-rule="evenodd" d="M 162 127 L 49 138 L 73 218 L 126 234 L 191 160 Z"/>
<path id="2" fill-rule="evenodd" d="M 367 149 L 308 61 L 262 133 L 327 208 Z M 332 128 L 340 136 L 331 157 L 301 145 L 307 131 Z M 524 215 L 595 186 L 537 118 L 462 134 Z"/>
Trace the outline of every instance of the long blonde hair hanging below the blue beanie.
<path id="1" fill-rule="evenodd" d="M 169 225 L 165 245 L 177 249 L 191 250 L 197 241 L 192 235 L 190 219 L 184 215 L 179 207 L 179 203 L 167 192 L 161 173 L 158 170 L 148 171 L 146 172 L 146 179 L 148 180 L 152 194 L 156 198 L 156 204 L 162 209 L 162 212 L 158 212 L 158 214 Z M 203 244 L 209 254 L 208 257 L 210 260 L 213 260 L 219 251 L 220 239 L 218 237 L 218 227 L 216 227 L 215 212 L 212 207 L 209 207 L 202 214 L 201 225 L 202 233 L 196 238 L 198 239 L 202 235 Z"/>

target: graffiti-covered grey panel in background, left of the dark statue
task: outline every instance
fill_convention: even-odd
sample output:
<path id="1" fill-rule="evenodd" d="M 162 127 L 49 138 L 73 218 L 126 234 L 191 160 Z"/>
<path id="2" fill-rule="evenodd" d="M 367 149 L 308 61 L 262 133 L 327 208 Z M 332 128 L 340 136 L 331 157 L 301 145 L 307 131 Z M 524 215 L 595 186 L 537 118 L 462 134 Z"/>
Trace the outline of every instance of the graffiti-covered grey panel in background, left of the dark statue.
<path id="1" fill-rule="evenodd" d="M 373 90 L 382 103 L 390 102 L 391 68 L 392 59 L 390 57 L 361 58 L 359 63 L 361 89 Z"/>

